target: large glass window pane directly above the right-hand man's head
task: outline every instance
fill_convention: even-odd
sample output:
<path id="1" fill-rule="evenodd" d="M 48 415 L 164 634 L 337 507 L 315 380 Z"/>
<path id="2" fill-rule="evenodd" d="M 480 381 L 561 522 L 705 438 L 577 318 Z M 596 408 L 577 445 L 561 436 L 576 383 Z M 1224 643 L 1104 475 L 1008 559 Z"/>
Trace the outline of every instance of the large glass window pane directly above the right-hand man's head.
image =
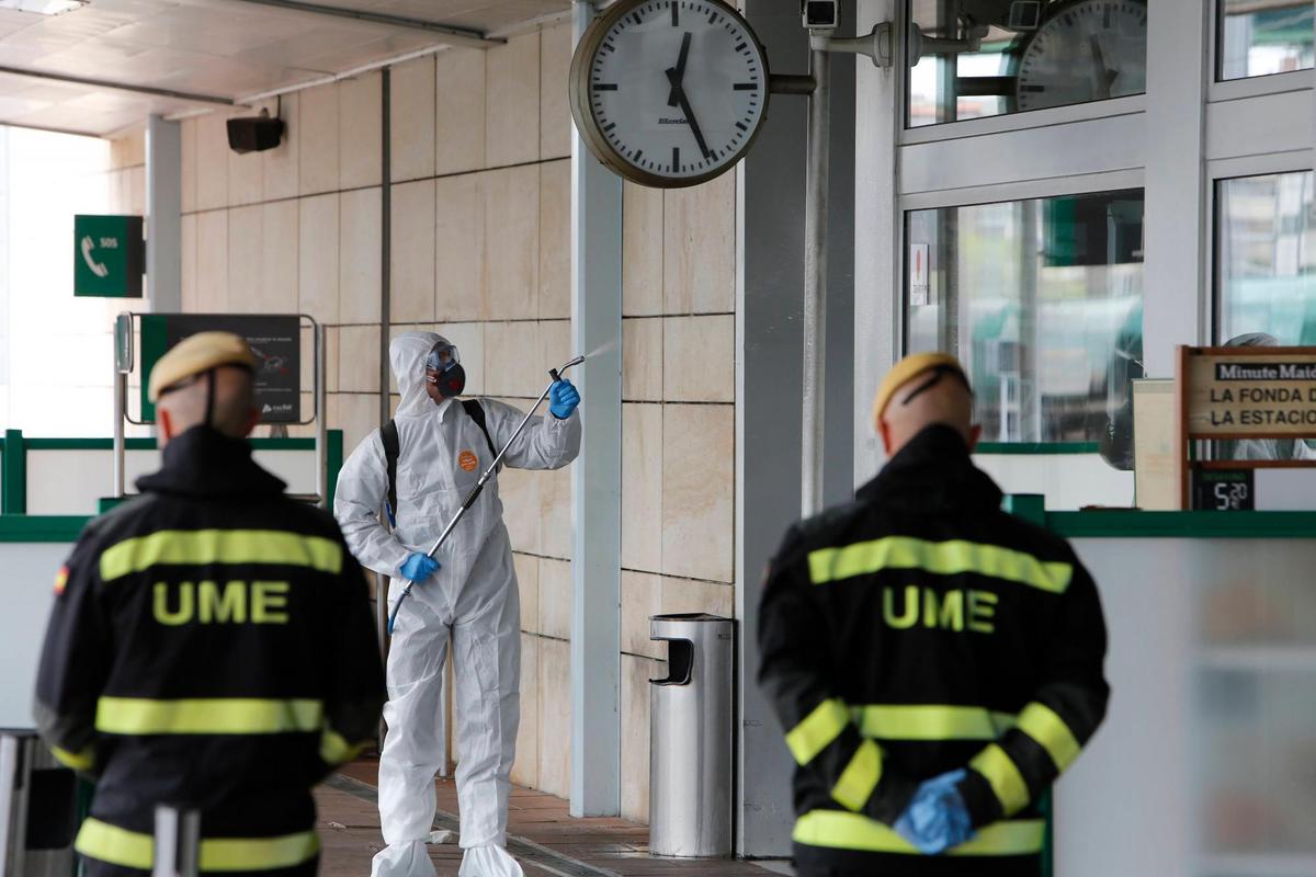
<path id="1" fill-rule="evenodd" d="M 1100 442 L 1109 462 L 1130 464 L 1142 191 L 916 210 L 905 222 L 909 351 L 959 356 L 983 440 Z"/>

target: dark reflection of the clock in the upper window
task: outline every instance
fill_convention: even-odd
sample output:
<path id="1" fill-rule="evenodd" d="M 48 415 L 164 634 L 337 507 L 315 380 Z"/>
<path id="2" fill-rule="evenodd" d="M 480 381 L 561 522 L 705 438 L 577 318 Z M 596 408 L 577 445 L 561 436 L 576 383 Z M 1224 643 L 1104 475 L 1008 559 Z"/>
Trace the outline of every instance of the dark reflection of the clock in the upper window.
<path id="1" fill-rule="evenodd" d="M 1146 91 L 1148 9 L 1138 0 L 1058 7 L 1019 59 L 1017 109 L 1083 104 Z"/>

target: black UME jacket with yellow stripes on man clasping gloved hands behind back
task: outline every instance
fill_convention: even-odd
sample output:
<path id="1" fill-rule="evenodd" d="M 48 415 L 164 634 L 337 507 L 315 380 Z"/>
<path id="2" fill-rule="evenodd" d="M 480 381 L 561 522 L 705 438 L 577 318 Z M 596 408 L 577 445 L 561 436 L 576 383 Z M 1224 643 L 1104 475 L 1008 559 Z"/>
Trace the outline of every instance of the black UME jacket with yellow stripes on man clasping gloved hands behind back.
<path id="1" fill-rule="evenodd" d="M 1038 872 L 1038 798 L 1105 714 L 1105 623 L 1069 544 L 1000 504 L 959 435 L 932 426 L 854 502 L 787 534 L 759 682 L 796 760 L 801 860 Z M 923 856 L 891 826 L 921 781 L 959 768 L 976 836 Z"/>

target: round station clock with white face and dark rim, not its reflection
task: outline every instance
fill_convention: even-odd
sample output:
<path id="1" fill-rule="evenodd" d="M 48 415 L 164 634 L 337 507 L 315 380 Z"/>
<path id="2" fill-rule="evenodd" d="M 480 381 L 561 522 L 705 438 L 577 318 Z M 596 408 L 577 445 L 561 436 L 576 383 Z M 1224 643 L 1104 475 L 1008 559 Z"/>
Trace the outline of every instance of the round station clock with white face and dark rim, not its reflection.
<path id="1" fill-rule="evenodd" d="M 622 0 L 595 21 L 571 70 L 590 150 L 646 185 L 694 185 L 730 168 L 767 109 L 767 63 L 720 0 Z"/>

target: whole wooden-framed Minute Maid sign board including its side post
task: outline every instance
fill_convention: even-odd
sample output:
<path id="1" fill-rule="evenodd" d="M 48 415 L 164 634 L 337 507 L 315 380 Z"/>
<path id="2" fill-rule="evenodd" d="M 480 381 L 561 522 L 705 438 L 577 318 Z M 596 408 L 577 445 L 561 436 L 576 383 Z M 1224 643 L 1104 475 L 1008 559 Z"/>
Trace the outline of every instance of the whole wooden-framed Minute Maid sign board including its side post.
<path id="1" fill-rule="evenodd" d="M 1298 459 L 1191 460 L 1188 454 L 1196 439 L 1316 437 L 1316 347 L 1179 347 L 1175 379 L 1179 508 L 1190 508 L 1192 469 L 1312 465 Z"/>

